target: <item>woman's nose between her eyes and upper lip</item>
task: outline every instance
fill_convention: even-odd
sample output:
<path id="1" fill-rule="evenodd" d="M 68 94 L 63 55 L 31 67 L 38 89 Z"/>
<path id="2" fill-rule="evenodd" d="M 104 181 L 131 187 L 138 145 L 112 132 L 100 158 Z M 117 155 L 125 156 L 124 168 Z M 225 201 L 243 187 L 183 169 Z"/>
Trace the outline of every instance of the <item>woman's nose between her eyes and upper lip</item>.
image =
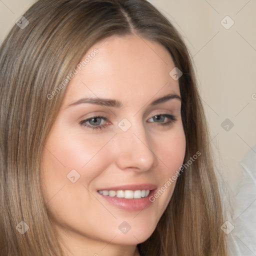
<path id="1" fill-rule="evenodd" d="M 126 130 L 119 130 L 116 140 L 116 165 L 124 170 L 144 172 L 157 165 L 153 152 L 153 141 L 143 124 L 132 124 Z"/>

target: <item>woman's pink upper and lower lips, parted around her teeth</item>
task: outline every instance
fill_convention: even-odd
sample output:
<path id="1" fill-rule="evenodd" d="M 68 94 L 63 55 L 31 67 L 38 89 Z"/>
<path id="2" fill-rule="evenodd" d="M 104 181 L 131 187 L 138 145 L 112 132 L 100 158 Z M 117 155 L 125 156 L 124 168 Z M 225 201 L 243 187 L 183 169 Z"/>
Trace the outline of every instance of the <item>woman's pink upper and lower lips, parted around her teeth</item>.
<path id="1" fill-rule="evenodd" d="M 99 192 L 96 192 L 98 196 L 100 196 L 102 199 L 106 200 L 108 203 L 114 205 L 117 208 L 128 210 L 128 211 L 136 211 L 136 210 L 142 210 L 149 205 L 151 205 L 151 201 L 149 200 L 149 197 L 153 195 L 156 191 L 156 186 L 153 184 L 130 184 L 130 185 L 121 185 L 121 186 L 115 186 L 115 187 L 106 187 L 106 188 L 100 188 L 98 190 L 150 190 L 149 194 L 146 197 L 141 198 L 119 198 L 116 196 L 108 196 L 100 194 Z M 98 191 L 97 190 L 97 191 Z"/>

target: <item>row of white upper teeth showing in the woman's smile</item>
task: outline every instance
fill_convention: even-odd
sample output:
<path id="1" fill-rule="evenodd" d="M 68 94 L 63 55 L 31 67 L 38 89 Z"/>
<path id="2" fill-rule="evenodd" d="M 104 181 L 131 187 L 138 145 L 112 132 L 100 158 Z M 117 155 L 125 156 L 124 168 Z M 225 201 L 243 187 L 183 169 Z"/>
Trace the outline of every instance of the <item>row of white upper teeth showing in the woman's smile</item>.
<path id="1" fill-rule="evenodd" d="M 98 190 L 100 194 L 103 195 L 108 195 L 110 197 L 119 197 L 119 198 L 127 198 L 127 199 L 132 199 L 132 198 L 141 198 L 141 197 L 146 197 L 150 190 Z"/>

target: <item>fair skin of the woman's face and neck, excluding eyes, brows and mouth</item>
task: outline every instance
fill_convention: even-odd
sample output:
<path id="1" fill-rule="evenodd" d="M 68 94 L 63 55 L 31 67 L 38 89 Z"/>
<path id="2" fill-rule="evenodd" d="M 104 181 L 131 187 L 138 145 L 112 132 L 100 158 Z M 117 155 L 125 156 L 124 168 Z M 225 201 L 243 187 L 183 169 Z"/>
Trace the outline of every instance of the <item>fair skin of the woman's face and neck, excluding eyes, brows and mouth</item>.
<path id="1" fill-rule="evenodd" d="M 57 118 L 42 152 L 40 182 L 43 197 L 67 255 L 139 255 L 136 245 L 153 232 L 171 198 L 175 182 L 141 211 L 117 208 L 103 200 L 102 187 L 153 183 L 160 188 L 182 165 L 185 135 L 179 99 L 149 106 L 168 93 L 180 96 L 178 80 L 169 75 L 174 63 L 160 44 L 134 35 L 108 37 L 88 52 L 99 52 L 67 85 Z M 83 58 L 84 59 L 84 58 Z M 123 107 L 91 103 L 67 107 L 82 97 L 121 101 Z M 52 99 L 53 100 L 53 99 Z M 176 117 L 169 126 L 167 117 Z M 90 129 L 79 121 L 103 115 Z M 131 127 L 117 124 L 126 118 Z M 93 126 L 93 121 L 86 122 Z M 72 183 L 67 174 L 80 178 Z M 123 234 L 118 226 L 131 229 Z"/>

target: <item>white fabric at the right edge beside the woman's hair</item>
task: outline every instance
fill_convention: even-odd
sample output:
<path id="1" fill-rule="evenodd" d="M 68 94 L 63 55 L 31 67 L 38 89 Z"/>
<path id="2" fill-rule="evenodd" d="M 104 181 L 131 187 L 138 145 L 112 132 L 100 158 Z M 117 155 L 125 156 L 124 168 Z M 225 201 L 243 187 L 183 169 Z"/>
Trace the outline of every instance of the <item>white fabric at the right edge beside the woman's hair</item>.
<path id="1" fill-rule="evenodd" d="M 228 234 L 231 256 L 256 256 L 256 146 L 240 162 L 243 172 L 234 191 L 232 224 Z"/>

